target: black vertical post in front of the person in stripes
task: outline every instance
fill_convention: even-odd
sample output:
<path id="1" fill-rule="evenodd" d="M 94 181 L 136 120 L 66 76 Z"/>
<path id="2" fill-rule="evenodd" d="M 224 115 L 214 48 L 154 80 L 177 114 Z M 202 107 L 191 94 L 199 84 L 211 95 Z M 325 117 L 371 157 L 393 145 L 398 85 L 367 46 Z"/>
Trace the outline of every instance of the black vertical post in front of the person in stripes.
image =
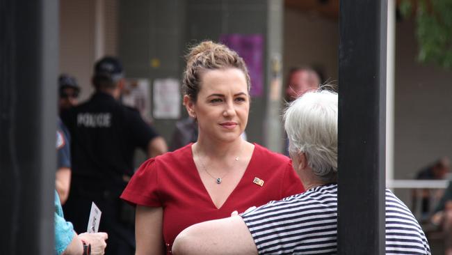
<path id="1" fill-rule="evenodd" d="M 387 1 L 341 0 L 339 254 L 385 254 Z"/>

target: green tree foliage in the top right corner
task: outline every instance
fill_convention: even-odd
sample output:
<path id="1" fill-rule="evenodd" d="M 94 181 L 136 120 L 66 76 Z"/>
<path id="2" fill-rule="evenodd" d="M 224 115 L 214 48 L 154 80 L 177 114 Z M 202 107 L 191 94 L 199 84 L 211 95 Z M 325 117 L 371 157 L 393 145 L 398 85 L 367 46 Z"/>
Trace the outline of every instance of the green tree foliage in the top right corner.
<path id="1" fill-rule="evenodd" d="M 402 1 L 399 10 L 410 17 L 412 2 Z M 418 60 L 452 68 L 452 0 L 418 0 L 416 24 Z"/>

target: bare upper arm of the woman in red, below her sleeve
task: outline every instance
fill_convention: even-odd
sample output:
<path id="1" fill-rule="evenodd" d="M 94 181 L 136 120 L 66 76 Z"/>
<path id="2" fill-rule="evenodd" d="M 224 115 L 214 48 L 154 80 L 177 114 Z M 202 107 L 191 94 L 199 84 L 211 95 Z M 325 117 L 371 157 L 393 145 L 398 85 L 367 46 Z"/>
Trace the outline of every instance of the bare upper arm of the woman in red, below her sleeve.
<path id="1" fill-rule="evenodd" d="M 136 255 L 164 254 L 163 208 L 136 206 Z"/>

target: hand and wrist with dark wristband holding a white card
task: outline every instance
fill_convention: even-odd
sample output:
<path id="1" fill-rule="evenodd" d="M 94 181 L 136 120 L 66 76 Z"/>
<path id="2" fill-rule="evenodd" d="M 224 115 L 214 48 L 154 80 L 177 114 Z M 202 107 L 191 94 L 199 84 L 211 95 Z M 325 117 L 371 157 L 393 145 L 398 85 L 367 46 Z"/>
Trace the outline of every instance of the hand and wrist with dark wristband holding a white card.
<path id="1" fill-rule="evenodd" d="M 105 252 L 106 242 L 108 235 L 104 232 L 99 233 L 81 233 L 80 235 L 74 235 L 72 241 L 67 245 L 63 255 L 82 255 L 83 254 L 83 241 L 91 245 L 91 255 L 102 255 Z"/>

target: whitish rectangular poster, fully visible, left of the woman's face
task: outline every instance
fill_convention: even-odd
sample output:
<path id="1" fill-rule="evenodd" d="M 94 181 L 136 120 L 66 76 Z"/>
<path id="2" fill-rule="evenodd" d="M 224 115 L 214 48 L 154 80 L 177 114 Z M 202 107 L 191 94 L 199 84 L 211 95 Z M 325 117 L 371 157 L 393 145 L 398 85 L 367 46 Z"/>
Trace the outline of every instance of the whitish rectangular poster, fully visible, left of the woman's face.
<path id="1" fill-rule="evenodd" d="M 153 86 L 154 107 L 152 113 L 154 118 L 179 118 L 181 114 L 179 80 L 175 78 L 155 79 Z"/>

